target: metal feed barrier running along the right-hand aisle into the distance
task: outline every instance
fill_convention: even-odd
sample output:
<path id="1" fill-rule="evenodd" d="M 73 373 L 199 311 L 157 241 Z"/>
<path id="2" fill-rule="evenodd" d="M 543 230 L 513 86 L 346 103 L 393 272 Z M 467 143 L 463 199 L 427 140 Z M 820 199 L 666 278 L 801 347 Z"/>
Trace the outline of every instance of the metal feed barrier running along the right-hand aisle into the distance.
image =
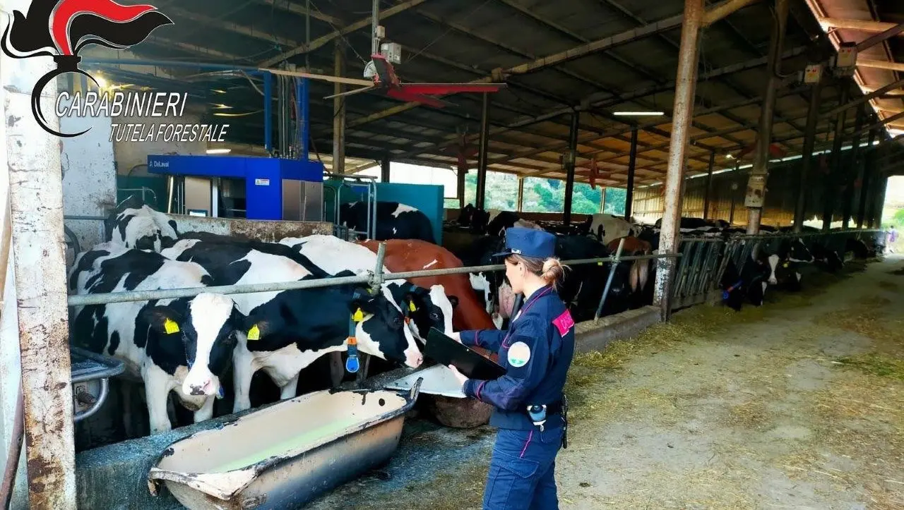
<path id="1" fill-rule="evenodd" d="M 802 238 L 807 247 L 813 243 L 834 251 L 843 257 L 848 239 L 882 235 L 881 230 L 840 230 L 833 232 L 807 232 L 787 234 L 760 234 L 757 236 L 731 236 L 722 238 L 684 237 L 679 245 L 683 255 L 675 272 L 672 293 L 672 310 L 678 310 L 702 302 L 711 302 L 720 295 L 719 283 L 732 262 L 741 268 L 748 258 L 760 250 L 776 253 L 786 239 Z"/>

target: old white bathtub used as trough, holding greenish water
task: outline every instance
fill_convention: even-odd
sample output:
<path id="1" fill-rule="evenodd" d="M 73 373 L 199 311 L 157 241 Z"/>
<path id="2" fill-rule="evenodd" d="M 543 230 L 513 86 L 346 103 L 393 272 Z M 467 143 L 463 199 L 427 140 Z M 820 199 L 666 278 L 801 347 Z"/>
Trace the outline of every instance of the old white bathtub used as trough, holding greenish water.
<path id="1" fill-rule="evenodd" d="M 322 391 L 177 440 L 148 473 L 191 510 L 297 508 L 389 459 L 409 392 Z"/>

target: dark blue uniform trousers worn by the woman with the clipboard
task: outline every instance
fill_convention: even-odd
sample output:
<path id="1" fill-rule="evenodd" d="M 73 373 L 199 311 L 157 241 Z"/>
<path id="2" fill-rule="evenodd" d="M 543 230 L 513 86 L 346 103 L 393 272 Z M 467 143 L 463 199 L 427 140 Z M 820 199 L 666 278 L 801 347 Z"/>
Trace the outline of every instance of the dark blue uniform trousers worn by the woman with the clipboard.
<path id="1" fill-rule="evenodd" d="M 562 429 L 499 429 L 484 492 L 484 510 L 558 510 L 554 476 Z"/>

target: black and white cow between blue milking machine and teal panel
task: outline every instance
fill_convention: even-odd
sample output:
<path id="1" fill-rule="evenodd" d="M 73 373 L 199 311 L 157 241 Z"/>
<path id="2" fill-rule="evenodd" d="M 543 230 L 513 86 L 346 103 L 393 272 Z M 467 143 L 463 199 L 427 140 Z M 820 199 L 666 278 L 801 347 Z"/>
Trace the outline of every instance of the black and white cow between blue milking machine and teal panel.
<path id="1" fill-rule="evenodd" d="M 351 202 L 339 208 L 339 221 L 344 227 L 363 231 L 367 229 L 368 204 Z M 423 212 L 399 202 L 377 202 L 377 238 L 386 239 L 420 239 L 428 243 L 436 243 L 433 227 Z"/>

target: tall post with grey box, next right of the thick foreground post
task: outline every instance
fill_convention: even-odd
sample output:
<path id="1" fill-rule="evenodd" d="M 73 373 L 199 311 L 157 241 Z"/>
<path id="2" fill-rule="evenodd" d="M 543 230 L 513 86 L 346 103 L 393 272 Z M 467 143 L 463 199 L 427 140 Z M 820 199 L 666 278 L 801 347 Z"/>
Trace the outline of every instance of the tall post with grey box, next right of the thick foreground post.
<path id="1" fill-rule="evenodd" d="M 772 27 L 772 38 L 769 41 L 769 58 L 767 62 L 768 81 L 766 93 L 763 95 L 763 109 L 759 116 L 757 150 L 754 153 L 753 168 L 747 184 L 747 197 L 744 205 L 748 208 L 747 233 L 758 234 L 759 222 L 763 216 L 766 203 L 766 181 L 769 177 L 769 144 L 772 143 L 772 124 L 776 108 L 776 94 L 781 79 L 777 76 L 781 66 L 780 55 L 785 38 L 785 27 L 788 17 L 789 0 L 776 0 L 776 23 Z"/>

